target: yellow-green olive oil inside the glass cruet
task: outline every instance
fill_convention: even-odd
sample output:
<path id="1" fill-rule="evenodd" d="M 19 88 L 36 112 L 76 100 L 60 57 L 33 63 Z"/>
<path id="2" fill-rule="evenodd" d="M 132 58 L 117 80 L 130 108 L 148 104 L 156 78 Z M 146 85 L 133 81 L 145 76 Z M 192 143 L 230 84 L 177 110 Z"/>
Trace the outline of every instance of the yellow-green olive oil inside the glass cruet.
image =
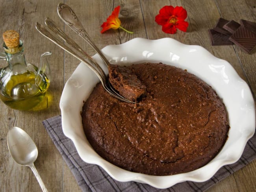
<path id="1" fill-rule="evenodd" d="M 32 109 L 43 100 L 50 85 L 44 74 L 39 77 L 39 85 L 36 85 L 35 76 L 32 71 L 9 76 L 2 84 L 0 99 L 13 109 Z"/>

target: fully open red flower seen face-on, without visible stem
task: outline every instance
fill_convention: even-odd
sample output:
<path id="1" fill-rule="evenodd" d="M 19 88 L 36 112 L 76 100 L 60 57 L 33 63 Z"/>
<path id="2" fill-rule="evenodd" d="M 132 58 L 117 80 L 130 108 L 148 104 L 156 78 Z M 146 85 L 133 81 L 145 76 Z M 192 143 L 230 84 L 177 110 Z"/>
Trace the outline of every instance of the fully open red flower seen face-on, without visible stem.
<path id="1" fill-rule="evenodd" d="M 155 21 L 162 26 L 162 31 L 165 33 L 176 33 L 176 28 L 186 32 L 188 22 L 187 11 L 183 7 L 164 6 L 160 9 L 159 14 L 156 15 Z"/>

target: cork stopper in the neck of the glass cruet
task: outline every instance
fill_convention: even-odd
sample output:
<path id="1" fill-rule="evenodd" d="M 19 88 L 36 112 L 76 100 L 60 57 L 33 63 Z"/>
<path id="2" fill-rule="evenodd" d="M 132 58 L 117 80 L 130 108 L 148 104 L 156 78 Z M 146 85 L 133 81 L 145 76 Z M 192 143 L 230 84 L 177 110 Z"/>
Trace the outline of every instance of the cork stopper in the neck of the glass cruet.
<path id="1" fill-rule="evenodd" d="M 19 47 L 20 35 L 17 31 L 14 31 L 14 30 L 5 31 L 3 34 L 3 39 L 6 46 L 9 49 Z"/>

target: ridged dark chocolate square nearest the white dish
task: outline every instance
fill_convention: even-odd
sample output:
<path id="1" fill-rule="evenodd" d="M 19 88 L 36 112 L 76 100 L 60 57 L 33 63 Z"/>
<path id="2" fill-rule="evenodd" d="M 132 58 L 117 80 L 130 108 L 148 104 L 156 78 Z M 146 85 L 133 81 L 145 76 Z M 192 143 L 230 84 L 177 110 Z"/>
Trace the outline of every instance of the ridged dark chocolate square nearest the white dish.
<path id="1" fill-rule="evenodd" d="M 244 26 L 240 26 L 235 33 L 230 36 L 229 40 L 250 53 L 256 46 L 256 33 L 248 30 Z"/>

